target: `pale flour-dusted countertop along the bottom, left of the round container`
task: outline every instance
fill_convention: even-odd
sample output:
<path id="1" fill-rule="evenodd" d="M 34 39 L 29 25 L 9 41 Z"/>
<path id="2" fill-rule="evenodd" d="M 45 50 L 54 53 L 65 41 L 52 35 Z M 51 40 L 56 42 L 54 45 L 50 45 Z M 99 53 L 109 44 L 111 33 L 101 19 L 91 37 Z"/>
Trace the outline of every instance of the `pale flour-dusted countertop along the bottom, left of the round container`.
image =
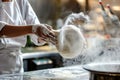
<path id="1" fill-rule="evenodd" d="M 1 75 L 0 80 L 89 80 L 89 73 L 81 65 Z"/>

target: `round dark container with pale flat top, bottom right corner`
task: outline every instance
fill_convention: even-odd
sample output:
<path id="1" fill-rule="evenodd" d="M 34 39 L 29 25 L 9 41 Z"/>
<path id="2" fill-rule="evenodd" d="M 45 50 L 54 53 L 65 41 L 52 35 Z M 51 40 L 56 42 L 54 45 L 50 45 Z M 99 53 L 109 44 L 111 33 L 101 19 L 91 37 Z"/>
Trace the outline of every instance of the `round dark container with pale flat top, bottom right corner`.
<path id="1" fill-rule="evenodd" d="M 89 80 L 120 80 L 120 63 L 93 63 L 83 68 L 90 72 Z"/>

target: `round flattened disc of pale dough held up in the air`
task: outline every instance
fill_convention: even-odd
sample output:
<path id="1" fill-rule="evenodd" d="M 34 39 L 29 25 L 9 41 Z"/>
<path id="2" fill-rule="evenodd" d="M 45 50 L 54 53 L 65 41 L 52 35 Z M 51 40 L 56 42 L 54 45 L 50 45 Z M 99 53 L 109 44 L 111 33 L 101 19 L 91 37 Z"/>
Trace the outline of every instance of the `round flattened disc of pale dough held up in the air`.
<path id="1" fill-rule="evenodd" d="M 56 45 L 60 55 L 64 58 L 74 58 L 82 53 L 86 41 L 80 29 L 74 25 L 64 25 L 58 32 Z"/>

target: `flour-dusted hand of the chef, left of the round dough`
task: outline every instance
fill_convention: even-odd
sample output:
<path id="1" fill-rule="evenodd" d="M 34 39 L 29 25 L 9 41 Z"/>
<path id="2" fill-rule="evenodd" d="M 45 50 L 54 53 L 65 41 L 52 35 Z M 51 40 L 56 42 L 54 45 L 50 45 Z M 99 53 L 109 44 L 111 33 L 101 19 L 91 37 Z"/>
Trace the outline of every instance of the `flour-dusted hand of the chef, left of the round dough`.
<path id="1" fill-rule="evenodd" d="M 50 42 L 52 44 L 56 44 L 57 37 L 55 33 L 53 32 L 53 29 L 51 26 L 47 24 L 38 24 L 34 25 L 32 27 L 33 32 L 39 37 L 39 41 L 43 40 L 45 42 Z"/>

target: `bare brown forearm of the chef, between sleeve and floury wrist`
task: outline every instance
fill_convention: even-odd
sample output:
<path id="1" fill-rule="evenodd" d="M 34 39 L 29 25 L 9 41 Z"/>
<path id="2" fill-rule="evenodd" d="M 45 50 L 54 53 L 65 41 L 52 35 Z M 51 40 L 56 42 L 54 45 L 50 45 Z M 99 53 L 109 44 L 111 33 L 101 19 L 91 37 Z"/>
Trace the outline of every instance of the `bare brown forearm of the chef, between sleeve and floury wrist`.
<path id="1" fill-rule="evenodd" d="M 0 31 L 0 35 L 5 35 L 7 37 L 17 37 L 31 33 L 32 33 L 32 26 L 5 25 L 5 27 Z"/>

